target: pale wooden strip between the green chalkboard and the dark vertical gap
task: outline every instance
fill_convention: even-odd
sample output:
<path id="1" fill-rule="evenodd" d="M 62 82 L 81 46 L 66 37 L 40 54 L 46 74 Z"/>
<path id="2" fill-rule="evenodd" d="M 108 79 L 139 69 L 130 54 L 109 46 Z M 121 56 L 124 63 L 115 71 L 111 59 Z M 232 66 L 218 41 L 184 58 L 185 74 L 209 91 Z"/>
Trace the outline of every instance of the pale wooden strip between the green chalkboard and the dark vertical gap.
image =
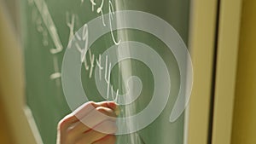
<path id="1" fill-rule="evenodd" d="M 189 49 L 193 60 L 194 85 L 189 106 L 188 143 L 206 144 L 218 1 L 191 2 Z"/>

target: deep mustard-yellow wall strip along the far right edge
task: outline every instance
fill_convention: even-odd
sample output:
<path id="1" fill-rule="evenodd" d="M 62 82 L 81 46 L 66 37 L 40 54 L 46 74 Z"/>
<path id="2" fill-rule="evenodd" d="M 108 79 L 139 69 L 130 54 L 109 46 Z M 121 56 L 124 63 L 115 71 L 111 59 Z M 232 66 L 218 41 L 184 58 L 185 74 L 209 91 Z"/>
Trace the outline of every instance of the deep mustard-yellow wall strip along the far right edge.
<path id="1" fill-rule="evenodd" d="M 243 0 L 232 144 L 256 143 L 256 1 Z"/>

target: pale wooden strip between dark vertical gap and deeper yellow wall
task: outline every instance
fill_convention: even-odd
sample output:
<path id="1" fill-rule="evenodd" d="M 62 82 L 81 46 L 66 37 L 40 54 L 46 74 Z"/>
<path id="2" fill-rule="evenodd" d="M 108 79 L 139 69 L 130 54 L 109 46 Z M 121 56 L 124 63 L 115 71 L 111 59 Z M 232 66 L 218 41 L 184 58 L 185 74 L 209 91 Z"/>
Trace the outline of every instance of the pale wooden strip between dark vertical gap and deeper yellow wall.
<path id="1" fill-rule="evenodd" d="M 221 0 L 212 144 L 230 144 L 241 0 Z"/>

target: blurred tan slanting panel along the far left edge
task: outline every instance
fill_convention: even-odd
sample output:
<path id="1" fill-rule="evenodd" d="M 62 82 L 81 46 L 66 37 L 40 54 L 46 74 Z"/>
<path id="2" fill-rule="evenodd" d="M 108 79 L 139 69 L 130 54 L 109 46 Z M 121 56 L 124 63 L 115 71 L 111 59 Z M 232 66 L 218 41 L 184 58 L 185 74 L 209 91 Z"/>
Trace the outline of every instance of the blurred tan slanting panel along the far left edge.
<path id="1" fill-rule="evenodd" d="M 0 5 L 0 103 L 6 111 L 13 142 L 35 144 L 37 140 L 23 109 L 25 106 L 23 60 L 12 26 L 5 8 Z"/>

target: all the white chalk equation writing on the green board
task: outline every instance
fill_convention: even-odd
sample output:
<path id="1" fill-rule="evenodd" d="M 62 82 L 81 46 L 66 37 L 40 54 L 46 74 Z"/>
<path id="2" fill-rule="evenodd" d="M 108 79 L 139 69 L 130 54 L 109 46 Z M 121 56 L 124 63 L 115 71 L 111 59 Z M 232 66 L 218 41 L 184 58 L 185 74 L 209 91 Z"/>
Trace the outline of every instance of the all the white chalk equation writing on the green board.
<path id="1" fill-rule="evenodd" d="M 104 2 L 105 2 L 105 0 L 102 0 L 102 2 L 100 3 L 100 6 L 96 9 L 96 13 L 101 14 L 102 25 L 107 26 L 105 23 L 104 13 L 102 10 L 102 8 L 104 6 Z M 49 78 L 52 80 L 55 80 L 56 86 L 61 86 L 61 68 L 58 64 L 59 60 L 56 55 L 58 55 L 59 53 L 62 52 L 63 45 L 61 43 L 55 23 L 54 23 L 51 15 L 49 14 L 48 6 L 44 0 L 28 0 L 28 3 L 29 3 L 29 5 L 32 5 L 34 3 L 35 6 L 37 7 L 39 14 L 40 14 L 40 16 L 38 16 L 38 14 L 37 14 L 38 12 L 35 9 L 32 10 L 32 21 L 36 21 L 37 30 L 38 30 L 38 32 L 42 33 L 42 35 L 43 35 L 43 45 L 48 46 L 48 44 L 49 44 L 48 34 L 51 37 L 51 39 L 55 45 L 55 49 L 49 49 L 49 53 L 53 55 L 53 67 L 54 67 L 54 72 L 49 76 Z M 81 0 L 81 3 L 84 3 L 84 0 Z M 90 4 L 91 4 L 91 11 L 94 12 L 97 3 L 94 0 L 90 0 Z M 116 41 L 113 36 L 112 20 L 113 20 L 114 8 L 113 8 L 113 3 L 111 0 L 108 1 L 108 12 L 109 12 L 108 20 L 109 20 L 109 28 L 110 28 L 110 32 L 111 32 L 111 37 L 113 39 L 113 43 L 118 45 L 120 43 L 120 40 Z M 70 49 L 70 46 L 72 45 L 71 40 L 73 37 L 76 37 L 79 41 L 84 42 L 84 46 L 79 45 L 79 43 L 74 43 L 74 44 L 75 44 L 76 48 L 79 50 L 79 53 L 81 54 L 81 62 L 84 63 L 85 70 L 89 71 L 89 78 L 92 77 L 93 68 L 95 66 L 98 66 L 100 80 L 102 80 L 102 71 L 105 72 L 104 73 L 104 76 L 105 76 L 104 81 L 108 84 L 107 99 L 108 100 L 112 99 L 113 101 L 117 101 L 118 95 L 119 95 L 119 89 L 114 91 L 113 85 L 110 84 L 111 63 L 108 63 L 108 55 L 106 55 L 106 57 L 105 57 L 106 65 L 105 65 L 105 67 L 102 67 L 102 64 L 101 64 L 102 55 L 97 55 L 98 60 L 96 60 L 96 55 L 92 54 L 90 49 L 88 48 L 88 37 L 89 37 L 88 26 L 87 25 L 84 26 L 83 33 L 81 36 L 79 36 L 78 33 L 74 35 L 74 26 L 75 26 L 76 15 L 69 14 L 68 12 L 66 15 L 67 15 L 66 25 L 69 28 L 68 42 L 70 42 L 67 45 L 67 49 Z M 69 18 L 70 15 L 71 15 L 71 19 Z M 44 26 L 46 27 L 46 29 L 43 26 L 43 22 L 44 22 Z M 89 52 L 89 62 L 86 59 L 87 51 Z M 111 98 L 109 96 L 110 90 L 111 90 L 111 95 L 112 95 Z M 114 95 L 114 94 L 116 94 L 116 95 Z"/>

